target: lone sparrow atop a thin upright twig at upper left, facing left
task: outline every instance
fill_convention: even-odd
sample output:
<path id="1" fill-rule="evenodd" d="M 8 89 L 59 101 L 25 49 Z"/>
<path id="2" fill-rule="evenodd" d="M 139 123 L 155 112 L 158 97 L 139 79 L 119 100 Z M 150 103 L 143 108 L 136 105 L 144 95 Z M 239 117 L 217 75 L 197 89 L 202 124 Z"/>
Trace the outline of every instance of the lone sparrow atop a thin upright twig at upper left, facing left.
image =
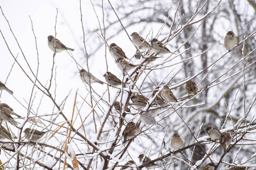
<path id="1" fill-rule="evenodd" d="M 62 52 L 64 50 L 71 50 L 72 52 L 73 50 L 75 50 L 72 48 L 68 48 L 67 46 L 62 44 L 60 40 L 55 39 L 52 35 L 48 36 L 48 46 L 53 52 L 55 52 L 56 49 L 56 53 Z"/>

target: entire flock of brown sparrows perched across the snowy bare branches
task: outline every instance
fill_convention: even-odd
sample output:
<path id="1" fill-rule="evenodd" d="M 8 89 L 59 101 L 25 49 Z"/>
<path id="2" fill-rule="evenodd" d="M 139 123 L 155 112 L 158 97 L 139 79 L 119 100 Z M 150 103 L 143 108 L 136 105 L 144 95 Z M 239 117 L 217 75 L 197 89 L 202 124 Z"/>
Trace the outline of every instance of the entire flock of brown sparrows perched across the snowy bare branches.
<path id="1" fill-rule="evenodd" d="M 162 56 L 163 54 L 172 53 L 158 39 L 151 39 L 150 44 L 149 44 L 146 40 L 143 39 L 143 37 L 139 36 L 139 34 L 137 32 L 133 32 L 131 34 L 131 37 L 132 37 L 133 44 L 137 47 L 138 50 L 139 49 L 142 49 L 142 50 L 152 49 L 154 51 L 155 56 L 151 55 L 151 57 L 144 57 L 145 61 L 143 63 L 145 63 L 145 64 L 148 64 L 148 63 L 160 58 L 157 56 Z M 238 43 L 238 41 L 237 41 L 237 38 L 234 37 L 234 33 L 232 31 L 229 31 L 226 34 L 225 39 L 224 39 L 225 48 L 230 50 L 237 43 Z M 48 46 L 55 53 L 62 52 L 63 50 L 71 50 L 71 51 L 74 50 L 72 48 L 67 48 L 63 43 L 61 43 L 58 39 L 55 39 L 53 36 L 48 36 Z M 115 59 L 115 62 L 117 63 L 117 67 L 121 71 L 124 71 L 125 73 L 127 73 L 127 71 L 130 71 L 130 70 L 134 69 L 135 67 L 139 66 L 139 65 L 133 65 L 133 63 L 130 63 L 130 59 L 126 56 L 126 54 L 123 52 L 123 50 L 115 43 L 110 44 L 109 52 L 110 52 L 111 56 Z M 172 54 L 174 54 L 174 53 L 172 53 Z M 141 54 L 139 55 L 139 57 L 135 56 L 135 58 L 137 58 L 137 59 L 141 58 Z M 93 76 L 91 73 L 89 73 L 85 69 L 81 69 L 79 71 L 79 73 L 80 73 L 81 80 L 87 84 L 92 84 L 92 83 L 104 84 L 104 82 L 97 79 L 95 76 Z M 118 87 L 118 86 L 122 86 L 122 84 L 125 84 L 117 76 L 110 73 L 109 71 L 104 74 L 104 77 L 105 77 L 106 82 L 110 86 Z M 5 84 L 3 84 L 1 81 L 0 81 L 0 90 L 6 90 L 10 94 L 13 94 L 13 91 L 9 90 L 9 88 L 7 88 L 5 86 Z M 185 85 L 185 91 L 187 92 L 187 94 L 189 96 L 196 95 L 198 92 L 196 83 L 193 82 L 192 80 L 188 80 L 188 82 L 186 82 L 186 85 Z M 155 104 L 159 105 L 160 107 L 167 106 L 170 103 L 177 103 L 177 99 L 176 99 L 175 95 L 172 93 L 172 91 L 170 90 L 170 88 L 167 85 L 163 86 L 161 91 L 158 91 L 158 89 L 156 89 L 152 93 L 152 97 L 155 97 Z M 144 97 L 141 94 L 133 94 L 133 95 L 131 95 L 130 99 L 131 99 L 133 105 L 139 110 L 143 110 L 144 107 L 146 107 L 146 105 L 148 103 L 147 97 Z M 2 122 L 10 122 L 10 124 L 18 127 L 17 125 L 19 123 L 14 120 L 12 115 L 17 116 L 17 117 L 20 117 L 20 116 L 18 114 L 14 113 L 13 109 L 11 107 L 9 107 L 9 105 L 7 105 L 5 103 L 1 103 L 0 106 L 1 106 L 0 138 L 5 138 L 5 139 L 9 139 L 9 140 L 13 141 L 13 138 L 12 138 L 11 134 L 9 133 L 9 131 L 6 130 L 2 126 Z M 121 103 L 119 101 L 115 101 L 114 108 L 116 111 L 121 113 L 122 109 L 121 109 Z M 130 109 L 127 108 L 126 112 L 130 112 Z M 154 116 L 156 116 L 156 114 L 154 114 L 152 112 L 148 112 L 148 111 L 146 111 L 146 112 L 141 111 L 139 114 L 140 114 L 140 119 L 143 122 L 143 124 L 145 124 L 147 126 L 158 124 L 154 118 Z M 139 133 L 140 130 L 141 129 L 139 128 L 138 124 L 135 124 L 134 122 L 128 122 L 126 125 L 126 128 L 123 130 L 123 133 L 122 133 L 123 143 L 125 143 L 127 141 L 127 139 L 129 139 L 129 138 L 133 138 L 134 135 L 136 133 Z M 221 133 L 220 130 L 218 130 L 217 128 L 213 128 L 211 126 L 208 126 L 205 129 L 205 131 L 207 132 L 207 134 L 213 141 L 215 141 L 217 139 L 220 140 L 220 144 L 223 147 L 224 152 L 226 153 L 226 147 L 228 147 L 230 145 L 230 143 L 232 142 L 233 133 L 232 132 Z M 28 139 L 28 141 L 38 142 L 43 137 L 43 135 L 46 134 L 47 132 L 48 131 L 39 131 L 39 130 L 27 128 L 24 130 L 24 134 L 25 134 L 24 137 L 26 139 Z M 179 134 L 175 133 L 171 139 L 171 147 L 174 148 L 174 150 L 180 150 L 180 148 L 183 148 L 183 146 L 184 146 L 183 139 L 181 139 Z M 139 155 L 138 158 L 139 158 L 139 162 L 141 162 L 141 164 L 144 164 L 144 163 L 147 163 L 150 161 L 150 158 L 148 158 L 144 154 Z M 129 160 L 129 162 L 127 162 L 121 169 L 126 169 L 127 167 L 129 167 L 130 165 L 133 165 L 133 164 L 134 164 L 133 160 Z M 155 167 L 155 166 L 157 166 L 157 164 L 152 163 L 152 164 L 147 165 L 146 168 Z M 209 169 L 209 170 L 212 169 L 213 170 L 214 164 L 209 163 L 203 169 Z"/>

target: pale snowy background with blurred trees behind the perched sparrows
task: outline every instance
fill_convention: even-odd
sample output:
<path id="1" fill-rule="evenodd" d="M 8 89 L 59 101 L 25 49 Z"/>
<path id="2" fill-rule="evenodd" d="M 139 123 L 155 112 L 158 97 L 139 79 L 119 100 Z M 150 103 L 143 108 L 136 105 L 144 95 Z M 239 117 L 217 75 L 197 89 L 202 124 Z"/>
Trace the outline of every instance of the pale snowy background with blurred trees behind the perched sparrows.
<path id="1" fill-rule="evenodd" d="M 136 167 L 141 165 L 138 160 L 139 154 L 146 154 L 151 159 L 169 154 L 168 148 L 171 148 L 170 141 L 174 133 L 179 133 L 185 141 L 184 146 L 188 146 L 197 142 L 193 136 L 203 137 L 201 139 L 206 140 L 207 134 L 204 129 L 208 125 L 222 129 L 223 132 L 233 130 L 234 127 L 243 127 L 250 122 L 251 126 L 247 131 L 240 129 L 242 132 L 238 133 L 239 135 L 233 139 L 233 142 L 241 136 L 242 139 L 224 158 L 221 158 L 223 155 L 221 147 L 213 151 L 218 145 L 214 142 L 205 142 L 202 147 L 184 149 L 184 155 L 176 153 L 163 159 L 162 162 L 156 162 L 161 165 L 156 169 L 201 169 L 209 162 L 217 165 L 220 160 L 217 169 L 230 169 L 240 164 L 255 169 L 255 2 L 249 0 L 83 1 L 80 6 L 79 1 L 55 0 L 2 1 L 0 6 L 4 14 L 2 15 L 1 11 L 0 80 L 14 92 L 10 95 L 6 91 L 1 91 L 0 101 L 9 104 L 16 113 L 22 116 L 22 118 L 15 118 L 20 123 L 20 128 L 51 130 L 40 143 L 45 142 L 52 146 L 22 144 L 20 142 L 27 141 L 24 139 L 24 134 L 13 125 L 4 124 L 3 126 L 18 137 L 15 139 L 17 142 L 15 148 L 19 147 L 20 152 L 25 155 L 18 156 L 16 152 L 1 148 L 0 159 L 5 167 L 15 168 L 16 161 L 19 160 L 19 167 L 24 169 L 42 168 L 42 165 L 35 163 L 37 161 L 46 164 L 47 169 L 63 168 L 63 162 L 59 163 L 52 157 L 56 156 L 64 161 L 64 148 L 68 143 L 77 154 L 80 169 L 85 169 L 85 167 L 106 169 L 117 162 L 118 165 L 123 165 L 131 159 L 135 161 L 134 167 Z M 176 11 L 177 6 L 179 8 Z M 80 7 L 85 36 L 81 24 Z M 114 10 L 125 29 L 118 21 Z M 189 20 L 195 13 L 195 18 Z M 203 19 L 200 20 L 201 18 Z M 193 23 L 195 21 L 198 22 Z M 189 27 L 181 27 L 187 23 L 193 24 Z M 241 42 L 240 46 L 227 53 L 228 51 L 222 44 L 226 32 L 230 30 L 234 31 L 238 41 L 246 39 L 243 50 L 243 42 Z M 122 71 L 115 65 L 105 41 L 108 45 L 115 42 L 123 49 L 126 56 L 131 58 L 136 52 L 129 38 L 133 32 L 138 32 L 147 41 L 157 36 L 159 40 L 164 40 L 167 48 L 176 54 L 166 54 L 164 58 L 148 65 L 147 69 L 138 71 L 137 73 L 141 76 L 136 85 L 141 88 L 138 90 L 135 87 L 132 91 L 141 91 L 144 96 L 150 97 L 156 86 L 162 88 L 164 84 L 168 84 L 183 108 L 175 111 L 174 108 L 179 107 L 176 104 L 170 105 L 168 109 L 162 109 L 166 112 L 160 113 L 155 118 L 163 128 L 158 125 L 146 128 L 142 123 L 142 131 L 134 142 L 122 145 L 122 131 L 127 122 L 139 121 L 139 111 L 131 106 L 132 114 L 126 114 L 124 121 L 121 114 L 114 109 L 109 116 L 107 114 L 109 107 L 112 106 L 119 89 L 106 84 L 94 83 L 91 85 L 94 92 L 90 95 L 90 87 L 81 81 L 79 69 L 88 70 L 89 67 L 90 73 L 103 82 L 105 82 L 103 75 L 106 71 L 122 79 Z M 53 52 L 48 48 L 47 37 L 55 36 L 55 33 L 57 39 L 75 51 L 57 53 L 53 65 Z M 171 36 L 167 42 L 166 38 L 170 33 Z M 105 40 L 102 38 L 104 36 Z M 207 51 L 204 52 L 205 50 Z M 247 54 L 250 55 L 247 56 Z M 243 57 L 245 57 L 244 60 L 242 60 Z M 217 61 L 219 58 L 220 60 Z M 135 58 L 132 60 L 134 64 L 143 61 L 143 59 Z M 188 62 L 191 63 L 185 66 Z M 212 63 L 214 65 L 210 66 Z M 51 80 L 52 67 L 53 79 Z M 247 69 L 241 71 L 244 67 Z M 47 96 L 46 89 L 39 82 L 36 82 L 36 85 L 46 94 L 43 94 L 31 82 L 31 80 L 34 82 L 35 76 L 30 69 L 35 75 L 38 71 L 38 80 L 44 87 L 48 88 L 51 80 L 49 92 L 53 100 Z M 204 69 L 207 70 L 202 71 Z M 201 91 L 193 99 L 184 99 L 187 96 L 185 93 L 186 79 L 193 76 L 195 76 L 193 80 Z M 118 101 L 122 100 L 123 104 L 126 103 L 127 97 L 130 97 L 126 91 L 129 91 L 129 88 L 125 88 L 125 91 L 122 91 L 117 98 Z M 89 107 L 92 104 L 91 97 L 93 97 L 94 112 Z M 74 103 L 76 107 L 72 119 Z M 57 106 L 61 109 L 61 113 Z M 69 134 L 67 131 L 69 126 L 65 123 L 66 120 L 62 114 L 68 121 L 72 120 L 73 128 L 85 136 L 83 125 L 86 138 L 100 151 L 93 151 L 93 147 L 88 145 L 86 140 L 74 130 L 69 142 L 65 143 Z M 103 129 L 104 133 L 97 139 L 106 116 L 108 120 Z M 50 138 L 52 131 L 57 133 Z M 110 154 L 109 150 L 115 140 L 117 140 L 117 146 L 114 147 L 113 154 Z M 7 139 L 1 139 L 1 141 L 9 142 Z M 207 156 L 207 159 L 202 157 L 205 156 L 203 150 L 210 153 L 210 159 Z M 122 152 L 124 155 L 119 159 Z M 102 155 L 110 156 L 107 165 L 104 164 L 107 159 L 104 158 L 104 161 Z M 71 168 L 71 158 L 67 163 L 68 168 Z"/>

